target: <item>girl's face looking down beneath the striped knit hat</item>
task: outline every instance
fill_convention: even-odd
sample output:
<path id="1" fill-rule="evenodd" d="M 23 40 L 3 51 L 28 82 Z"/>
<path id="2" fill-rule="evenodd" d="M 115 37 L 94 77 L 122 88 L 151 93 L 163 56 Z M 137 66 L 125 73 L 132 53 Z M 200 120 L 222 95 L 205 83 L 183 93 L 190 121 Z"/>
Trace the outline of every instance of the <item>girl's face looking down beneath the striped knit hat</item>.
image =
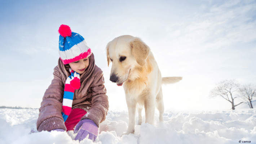
<path id="1" fill-rule="evenodd" d="M 89 66 L 89 58 L 87 57 L 87 58 L 69 63 L 69 66 L 75 72 L 82 74 L 85 71 L 85 69 Z"/>

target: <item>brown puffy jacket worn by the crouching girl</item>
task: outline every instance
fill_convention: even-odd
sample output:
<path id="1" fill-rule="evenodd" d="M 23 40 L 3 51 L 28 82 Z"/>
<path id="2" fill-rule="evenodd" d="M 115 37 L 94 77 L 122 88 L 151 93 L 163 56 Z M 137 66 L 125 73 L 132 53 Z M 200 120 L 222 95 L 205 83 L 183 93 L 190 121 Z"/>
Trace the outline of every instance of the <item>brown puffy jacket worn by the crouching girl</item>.
<path id="1" fill-rule="evenodd" d="M 62 117 L 62 100 L 64 86 L 70 72 L 62 61 L 58 60 L 58 66 L 54 68 L 52 84 L 45 91 L 39 117 L 36 122 L 38 131 L 51 131 L 54 129 L 66 130 Z M 105 120 L 109 110 L 108 97 L 104 86 L 103 72 L 95 65 L 94 55 L 89 57 L 89 66 L 80 75 L 81 87 L 75 90 L 72 109 L 81 108 L 87 111 L 81 120 L 91 119 L 99 126 Z"/>

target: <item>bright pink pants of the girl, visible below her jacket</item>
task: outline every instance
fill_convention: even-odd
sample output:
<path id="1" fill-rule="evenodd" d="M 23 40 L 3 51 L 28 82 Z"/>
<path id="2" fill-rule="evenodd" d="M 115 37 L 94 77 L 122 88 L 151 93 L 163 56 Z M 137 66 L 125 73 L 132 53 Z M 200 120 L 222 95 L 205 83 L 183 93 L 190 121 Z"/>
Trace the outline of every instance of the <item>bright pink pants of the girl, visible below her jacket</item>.
<path id="1" fill-rule="evenodd" d="M 87 112 L 80 108 L 71 109 L 69 117 L 65 122 L 65 126 L 67 127 L 67 131 L 74 130 L 76 124 L 80 121 L 80 119 L 86 114 Z"/>

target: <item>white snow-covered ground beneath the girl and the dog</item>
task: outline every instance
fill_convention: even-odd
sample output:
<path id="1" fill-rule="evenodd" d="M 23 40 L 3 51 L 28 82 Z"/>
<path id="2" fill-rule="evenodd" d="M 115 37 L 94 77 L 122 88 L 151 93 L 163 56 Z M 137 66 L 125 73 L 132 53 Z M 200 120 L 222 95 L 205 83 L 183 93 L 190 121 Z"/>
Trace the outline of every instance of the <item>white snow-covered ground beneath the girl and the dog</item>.
<path id="1" fill-rule="evenodd" d="M 38 109 L 0 109 L 0 144 L 79 144 L 73 131 L 37 132 Z M 238 144 L 256 143 L 256 109 L 165 112 L 164 123 L 136 125 L 123 135 L 128 112 L 109 111 L 100 125 L 97 144 Z M 145 121 L 145 116 L 144 116 Z M 85 139 L 80 144 L 91 144 Z"/>

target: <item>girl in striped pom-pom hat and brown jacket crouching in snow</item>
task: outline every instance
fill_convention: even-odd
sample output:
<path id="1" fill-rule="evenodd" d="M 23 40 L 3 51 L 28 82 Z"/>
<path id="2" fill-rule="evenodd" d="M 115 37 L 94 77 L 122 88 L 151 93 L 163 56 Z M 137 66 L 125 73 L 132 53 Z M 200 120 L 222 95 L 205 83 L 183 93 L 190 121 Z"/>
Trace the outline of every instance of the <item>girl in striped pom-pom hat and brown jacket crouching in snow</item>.
<path id="1" fill-rule="evenodd" d="M 75 140 L 89 134 L 94 141 L 109 109 L 103 72 L 81 35 L 64 24 L 59 34 L 60 58 L 41 102 L 37 130 L 74 130 Z"/>

